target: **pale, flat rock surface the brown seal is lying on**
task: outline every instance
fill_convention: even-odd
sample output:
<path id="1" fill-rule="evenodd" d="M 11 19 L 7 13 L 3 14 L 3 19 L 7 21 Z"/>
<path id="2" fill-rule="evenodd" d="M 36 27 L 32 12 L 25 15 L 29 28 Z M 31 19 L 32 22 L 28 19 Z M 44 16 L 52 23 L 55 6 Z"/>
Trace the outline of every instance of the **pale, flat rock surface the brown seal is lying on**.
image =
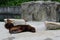
<path id="1" fill-rule="evenodd" d="M 0 40 L 60 40 L 60 30 L 46 30 L 44 22 L 27 22 L 27 24 L 35 27 L 37 32 L 9 34 L 4 28 L 4 22 L 0 22 Z"/>

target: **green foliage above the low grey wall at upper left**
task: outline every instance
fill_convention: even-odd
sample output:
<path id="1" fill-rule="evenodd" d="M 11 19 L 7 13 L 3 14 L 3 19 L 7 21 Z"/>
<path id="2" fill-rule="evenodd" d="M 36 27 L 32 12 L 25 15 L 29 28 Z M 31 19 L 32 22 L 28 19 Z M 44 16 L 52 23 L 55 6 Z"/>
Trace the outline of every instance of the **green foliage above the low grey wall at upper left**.
<path id="1" fill-rule="evenodd" d="M 23 2 L 35 0 L 0 0 L 0 6 L 18 6 Z"/>

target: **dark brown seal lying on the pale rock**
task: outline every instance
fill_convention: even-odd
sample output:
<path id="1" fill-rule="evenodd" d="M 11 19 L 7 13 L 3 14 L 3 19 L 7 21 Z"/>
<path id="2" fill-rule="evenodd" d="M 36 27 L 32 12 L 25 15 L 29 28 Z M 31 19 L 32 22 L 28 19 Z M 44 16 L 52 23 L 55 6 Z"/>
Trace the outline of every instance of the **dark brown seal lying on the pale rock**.
<path id="1" fill-rule="evenodd" d="M 30 25 L 16 25 L 12 23 L 11 20 L 7 19 L 7 23 L 5 24 L 5 28 L 9 30 L 9 33 L 21 33 L 21 32 L 35 32 L 35 28 Z"/>

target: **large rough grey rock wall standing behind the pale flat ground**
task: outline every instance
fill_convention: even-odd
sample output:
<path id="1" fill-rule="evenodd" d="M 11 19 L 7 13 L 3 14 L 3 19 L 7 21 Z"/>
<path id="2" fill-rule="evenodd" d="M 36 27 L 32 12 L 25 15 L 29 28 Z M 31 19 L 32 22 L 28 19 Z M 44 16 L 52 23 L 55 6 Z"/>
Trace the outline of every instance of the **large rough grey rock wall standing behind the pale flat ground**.
<path id="1" fill-rule="evenodd" d="M 22 18 L 29 21 L 56 21 L 57 2 L 33 1 L 21 4 Z"/>

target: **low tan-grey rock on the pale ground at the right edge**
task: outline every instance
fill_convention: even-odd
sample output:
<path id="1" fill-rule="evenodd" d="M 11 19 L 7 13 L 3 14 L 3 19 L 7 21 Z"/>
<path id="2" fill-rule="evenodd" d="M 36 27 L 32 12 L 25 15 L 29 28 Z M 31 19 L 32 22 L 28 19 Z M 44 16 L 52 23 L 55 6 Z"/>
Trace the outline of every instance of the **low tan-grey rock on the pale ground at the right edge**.
<path id="1" fill-rule="evenodd" d="M 60 23 L 57 23 L 57 22 L 45 22 L 45 25 L 47 27 L 47 29 L 50 29 L 50 30 L 57 30 L 57 29 L 60 29 Z"/>

